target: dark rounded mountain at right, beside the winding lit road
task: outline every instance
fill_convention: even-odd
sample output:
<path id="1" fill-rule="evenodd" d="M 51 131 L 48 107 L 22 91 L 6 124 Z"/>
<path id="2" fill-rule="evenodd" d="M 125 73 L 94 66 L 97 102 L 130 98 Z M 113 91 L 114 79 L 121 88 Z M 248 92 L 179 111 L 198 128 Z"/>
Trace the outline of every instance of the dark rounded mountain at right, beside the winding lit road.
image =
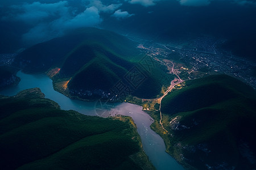
<path id="1" fill-rule="evenodd" d="M 167 151 L 192 169 L 255 168 L 255 90 L 228 75 L 185 85 L 162 101 Z"/>

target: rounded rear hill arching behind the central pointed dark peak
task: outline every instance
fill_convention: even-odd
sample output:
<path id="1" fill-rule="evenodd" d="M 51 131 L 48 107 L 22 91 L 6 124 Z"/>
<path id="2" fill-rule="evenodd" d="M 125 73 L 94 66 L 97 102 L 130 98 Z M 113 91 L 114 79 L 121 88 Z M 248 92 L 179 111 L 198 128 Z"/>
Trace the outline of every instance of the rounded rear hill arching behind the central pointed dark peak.
<path id="1" fill-rule="evenodd" d="M 62 66 L 63 60 L 68 57 L 89 56 L 88 46 L 87 49 L 81 49 L 81 46 L 92 45 L 89 48 L 97 51 L 100 48 L 93 48 L 94 43 L 104 45 L 106 49 L 130 60 L 136 60 L 140 54 L 135 48 L 137 44 L 124 36 L 104 29 L 83 28 L 24 50 L 15 58 L 14 65 L 22 68 L 25 73 L 42 73 L 52 66 Z M 75 62 L 79 62 L 76 59 Z"/>

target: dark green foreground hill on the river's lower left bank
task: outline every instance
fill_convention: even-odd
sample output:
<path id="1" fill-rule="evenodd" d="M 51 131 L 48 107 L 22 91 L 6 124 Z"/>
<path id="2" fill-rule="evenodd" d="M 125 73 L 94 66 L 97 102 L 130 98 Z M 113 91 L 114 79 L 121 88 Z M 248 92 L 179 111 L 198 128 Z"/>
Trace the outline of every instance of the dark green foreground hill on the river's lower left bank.
<path id="1" fill-rule="evenodd" d="M 63 111 L 39 88 L 0 97 L 1 169 L 154 169 L 130 117 Z"/>

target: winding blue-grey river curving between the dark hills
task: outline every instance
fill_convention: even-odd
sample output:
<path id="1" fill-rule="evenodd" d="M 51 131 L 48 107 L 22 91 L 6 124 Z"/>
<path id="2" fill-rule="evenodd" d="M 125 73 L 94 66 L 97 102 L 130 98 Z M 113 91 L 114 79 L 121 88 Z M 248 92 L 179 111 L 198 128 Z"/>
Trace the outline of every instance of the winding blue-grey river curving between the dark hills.
<path id="1" fill-rule="evenodd" d="M 45 74 L 24 74 L 21 71 L 17 73 L 20 77 L 20 82 L 15 87 L 7 88 L 0 91 L 0 94 L 6 96 L 14 96 L 19 91 L 27 88 L 39 87 L 46 95 L 46 98 L 56 101 L 64 110 L 74 110 L 89 116 L 114 116 L 122 114 L 133 118 L 137 125 L 137 131 L 141 136 L 143 150 L 150 158 L 156 169 L 184 169 L 176 162 L 174 158 L 168 155 L 165 150 L 163 139 L 150 129 L 150 125 L 154 120 L 145 112 L 142 107 L 130 103 L 109 103 L 104 102 L 85 102 L 81 100 L 69 99 L 67 96 L 53 90 L 52 80 Z"/>

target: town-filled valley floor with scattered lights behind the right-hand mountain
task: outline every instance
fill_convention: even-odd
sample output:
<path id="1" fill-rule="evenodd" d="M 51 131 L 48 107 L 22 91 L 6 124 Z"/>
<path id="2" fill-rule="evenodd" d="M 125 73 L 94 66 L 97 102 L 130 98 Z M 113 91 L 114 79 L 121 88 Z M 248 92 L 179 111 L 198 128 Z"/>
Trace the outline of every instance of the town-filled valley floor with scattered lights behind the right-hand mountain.
<path id="1" fill-rule="evenodd" d="M 138 40 L 137 37 L 131 39 Z M 241 58 L 220 46 L 225 42 L 211 36 L 181 42 L 150 42 L 138 40 L 138 48 L 145 50 L 151 57 L 171 59 L 179 63 L 175 69 L 181 79 L 195 79 L 205 74 L 227 74 L 256 88 L 255 61 Z M 183 65 L 182 65 L 183 64 Z"/>

